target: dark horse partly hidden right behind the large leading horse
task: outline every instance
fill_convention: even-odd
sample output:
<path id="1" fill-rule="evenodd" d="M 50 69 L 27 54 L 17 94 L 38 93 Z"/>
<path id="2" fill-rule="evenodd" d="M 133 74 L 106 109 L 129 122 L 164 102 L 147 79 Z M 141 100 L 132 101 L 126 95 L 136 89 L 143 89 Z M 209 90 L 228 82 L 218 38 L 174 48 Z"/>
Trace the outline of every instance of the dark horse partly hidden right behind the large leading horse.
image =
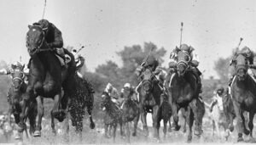
<path id="1" fill-rule="evenodd" d="M 83 119 L 85 114 L 85 107 L 90 117 L 90 129 L 95 128 L 95 123 L 92 120 L 91 112 L 93 109 L 94 97 L 93 94 L 89 92 L 87 83 L 84 82 L 83 78 L 79 75 L 74 76 L 76 83 L 76 91 L 74 97 L 71 99 L 70 103 L 70 115 L 72 120 L 72 125 L 76 127 L 76 132 L 79 133 L 79 139 L 82 141 L 82 131 L 83 131 Z"/>

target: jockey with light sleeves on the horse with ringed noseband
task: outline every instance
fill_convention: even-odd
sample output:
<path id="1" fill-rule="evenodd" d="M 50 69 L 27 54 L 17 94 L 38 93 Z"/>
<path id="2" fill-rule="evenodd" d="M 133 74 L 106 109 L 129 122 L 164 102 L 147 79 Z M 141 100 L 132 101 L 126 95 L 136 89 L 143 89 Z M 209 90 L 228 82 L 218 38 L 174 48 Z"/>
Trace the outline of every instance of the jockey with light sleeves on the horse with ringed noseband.
<path id="1" fill-rule="evenodd" d="M 198 70 L 197 66 L 199 65 L 199 58 L 198 55 L 195 53 L 195 48 L 188 46 L 187 44 L 182 44 L 180 48 L 176 47 L 173 49 L 171 55 L 170 55 L 170 60 L 169 60 L 169 67 L 171 71 L 176 70 L 177 66 L 177 53 L 179 51 L 184 51 L 187 52 L 190 56 L 190 61 L 189 61 L 189 70 L 192 71 L 192 73 L 195 75 L 197 78 L 197 83 L 199 85 L 199 91 L 201 91 L 201 71 Z"/>

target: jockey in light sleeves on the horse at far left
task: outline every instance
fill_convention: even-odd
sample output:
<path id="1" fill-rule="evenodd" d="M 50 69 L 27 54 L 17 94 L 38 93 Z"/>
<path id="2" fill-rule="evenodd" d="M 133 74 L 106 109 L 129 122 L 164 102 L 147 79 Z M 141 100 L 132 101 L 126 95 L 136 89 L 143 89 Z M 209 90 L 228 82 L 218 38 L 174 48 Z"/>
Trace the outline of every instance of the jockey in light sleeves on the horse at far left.
<path id="1" fill-rule="evenodd" d="M 15 70 L 22 70 L 22 69 L 23 69 L 22 64 L 20 64 L 19 61 L 15 61 L 14 63 L 11 64 L 11 66 L 8 69 L 0 70 L 0 75 L 10 75 Z M 10 88 L 9 88 L 9 91 L 7 92 L 7 100 L 8 102 L 10 101 Z"/>

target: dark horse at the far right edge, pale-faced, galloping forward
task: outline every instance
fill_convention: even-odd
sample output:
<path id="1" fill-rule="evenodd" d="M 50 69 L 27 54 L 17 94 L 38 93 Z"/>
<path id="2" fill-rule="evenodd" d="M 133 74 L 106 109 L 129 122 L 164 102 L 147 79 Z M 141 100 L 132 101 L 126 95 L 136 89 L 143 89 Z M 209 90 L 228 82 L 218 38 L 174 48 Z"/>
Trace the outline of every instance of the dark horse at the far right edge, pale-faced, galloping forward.
<path id="1" fill-rule="evenodd" d="M 247 135 L 250 133 L 250 137 L 253 139 L 253 117 L 256 111 L 256 83 L 247 74 L 249 65 L 243 54 L 238 53 L 233 63 L 235 64 L 236 76 L 231 84 L 231 95 L 237 119 L 237 141 L 241 142 L 243 141 L 242 131 Z M 245 127 L 244 111 L 249 113 L 248 127 L 250 131 L 247 131 Z"/>

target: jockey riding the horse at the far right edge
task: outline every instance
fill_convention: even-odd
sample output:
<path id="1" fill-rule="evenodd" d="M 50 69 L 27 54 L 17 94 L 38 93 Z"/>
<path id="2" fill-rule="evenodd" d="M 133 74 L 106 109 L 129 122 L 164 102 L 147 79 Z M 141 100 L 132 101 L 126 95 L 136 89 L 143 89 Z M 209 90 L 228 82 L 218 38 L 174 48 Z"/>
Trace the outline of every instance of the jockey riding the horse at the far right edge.
<path id="1" fill-rule="evenodd" d="M 256 69 L 256 65 L 253 64 L 253 58 L 254 58 L 254 53 L 251 51 L 251 49 L 249 47 L 243 47 L 241 49 L 241 54 L 243 54 L 243 56 L 245 56 L 247 58 L 247 62 L 248 64 L 250 65 L 250 68 L 247 70 L 248 74 L 250 76 L 252 76 L 253 80 L 255 78 L 255 75 L 253 74 L 253 71 L 251 70 L 252 69 Z M 231 63 L 230 65 L 234 65 L 234 59 L 236 57 L 236 53 L 235 55 L 233 56 L 233 59 L 231 60 Z M 232 82 L 233 82 L 233 79 L 234 79 L 234 76 L 236 75 L 236 71 L 235 70 L 231 70 L 231 76 L 230 76 L 230 81 L 229 81 L 229 86 L 231 86 Z"/>

